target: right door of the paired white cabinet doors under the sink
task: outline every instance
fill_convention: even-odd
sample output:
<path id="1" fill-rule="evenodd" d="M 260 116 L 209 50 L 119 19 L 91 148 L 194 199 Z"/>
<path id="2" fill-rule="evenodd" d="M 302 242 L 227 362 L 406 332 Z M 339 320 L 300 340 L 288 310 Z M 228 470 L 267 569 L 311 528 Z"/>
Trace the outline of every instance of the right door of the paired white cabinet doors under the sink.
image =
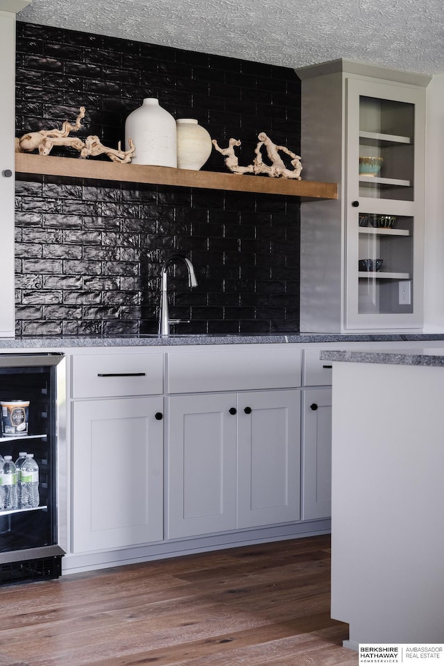
<path id="1" fill-rule="evenodd" d="M 238 398 L 237 527 L 300 518 L 300 391 Z"/>

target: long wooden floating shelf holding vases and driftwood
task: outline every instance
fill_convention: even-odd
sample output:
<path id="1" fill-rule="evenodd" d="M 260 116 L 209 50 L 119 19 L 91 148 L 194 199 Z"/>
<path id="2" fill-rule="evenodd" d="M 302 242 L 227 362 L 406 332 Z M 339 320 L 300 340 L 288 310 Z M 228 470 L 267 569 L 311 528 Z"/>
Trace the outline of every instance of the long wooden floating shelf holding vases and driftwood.
<path id="1" fill-rule="evenodd" d="M 281 194 L 301 198 L 337 199 L 335 182 L 289 180 L 268 176 L 246 176 L 216 171 L 191 171 L 171 167 L 145 167 L 142 164 L 98 162 L 76 157 L 53 157 L 37 153 L 15 153 L 16 173 L 37 173 L 43 176 L 145 182 L 151 185 L 225 189 L 229 191 Z"/>

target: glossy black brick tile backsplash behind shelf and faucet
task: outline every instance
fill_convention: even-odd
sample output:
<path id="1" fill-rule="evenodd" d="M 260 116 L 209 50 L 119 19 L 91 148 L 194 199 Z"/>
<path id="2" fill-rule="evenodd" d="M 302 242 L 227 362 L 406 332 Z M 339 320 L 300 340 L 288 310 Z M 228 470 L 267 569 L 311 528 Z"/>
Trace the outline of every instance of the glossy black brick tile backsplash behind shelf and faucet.
<path id="1" fill-rule="evenodd" d="M 16 136 L 60 128 L 86 108 L 78 135 L 123 142 L 128 114 L 158 97 L 219 144 L 257 134 L 298 152 L 300 84 L 292 69 L 17 22 Z M 78 157 L 69 148 L 53 155 Z M 212 152 L 207 171 L 225 172 Z M 194 263 L 190 290 L 171 269 L 178 333 L 299 330 L 299 203 L 291 197 L 17 175 L 18 335 L 157 332 L 160 269 Z M 248 176 L 239 176 L 248 178 Z"/>

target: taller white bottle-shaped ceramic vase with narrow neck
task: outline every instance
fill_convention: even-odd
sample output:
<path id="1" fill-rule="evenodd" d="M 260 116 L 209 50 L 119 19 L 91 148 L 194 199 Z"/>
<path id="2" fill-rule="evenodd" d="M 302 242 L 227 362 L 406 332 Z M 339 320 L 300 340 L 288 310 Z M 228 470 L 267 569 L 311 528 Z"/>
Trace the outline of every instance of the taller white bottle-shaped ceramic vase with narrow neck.
<path id="1" fill-rule="evenodd" d="M 133 164 L 155 164 L 177 168 L 176 121 L 155 97 L 146 97 L 142 106 L 129 114 L 125 123 L 126 150 L 133 139 Z"/>

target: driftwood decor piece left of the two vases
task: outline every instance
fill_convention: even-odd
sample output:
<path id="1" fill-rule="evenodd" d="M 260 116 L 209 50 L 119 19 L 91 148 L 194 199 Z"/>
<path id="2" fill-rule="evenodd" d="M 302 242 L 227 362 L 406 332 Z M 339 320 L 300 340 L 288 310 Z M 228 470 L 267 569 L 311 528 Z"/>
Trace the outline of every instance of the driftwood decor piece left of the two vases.
<path id="1" fill-rule="evenodd" d="M 96 157 L 96 155 L 107 155 L 112 162 L 127 163 L 135 154 L 135 146 L 131 139 L 128 140 L 130 149 L 121 151 L 121 143 L 117 144 L 117 150 L 103 146 L 99 137 L 94 135 L 86 137 L 85 141 L 78 137 L 70 137 L 69 133 L 78 132 L 82 127 L 82 120 L 85 117 L 85 107 L 80 106 L 76 122 L 71 124 L 65 120 L 62 129 L 40 130 L 39 132 L 28 132 L 22 137 L 15 139 L 16 153 L 33 153 L 39 151 L 40 155 L 49 155 L 53 146 L 69 146 L 75 148 L 80 153 L 80 157 Z"/>

